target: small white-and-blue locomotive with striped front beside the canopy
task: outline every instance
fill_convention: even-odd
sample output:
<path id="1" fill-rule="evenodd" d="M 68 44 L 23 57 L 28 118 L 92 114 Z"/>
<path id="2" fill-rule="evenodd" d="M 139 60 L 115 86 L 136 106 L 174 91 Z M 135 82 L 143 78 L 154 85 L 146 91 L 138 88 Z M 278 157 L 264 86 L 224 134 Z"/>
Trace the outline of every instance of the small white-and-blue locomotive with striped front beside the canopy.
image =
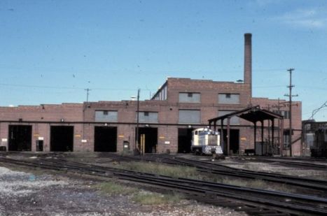
<path id="1" fill-rule="evenodd" d="M 192 131 L 191 151 L 195 154 L 223 154 L 218 131 L 200 128 Z"/>

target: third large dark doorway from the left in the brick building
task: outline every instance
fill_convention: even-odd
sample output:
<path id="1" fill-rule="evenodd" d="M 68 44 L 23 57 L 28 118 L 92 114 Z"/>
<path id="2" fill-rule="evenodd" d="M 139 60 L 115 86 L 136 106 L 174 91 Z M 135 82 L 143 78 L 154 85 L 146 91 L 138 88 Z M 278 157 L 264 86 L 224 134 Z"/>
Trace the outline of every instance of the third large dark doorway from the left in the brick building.
<path id="1" fill-rule="evenodd" d="M 95 127 L 95 152 L 117 152 L 117 127 Z"/>

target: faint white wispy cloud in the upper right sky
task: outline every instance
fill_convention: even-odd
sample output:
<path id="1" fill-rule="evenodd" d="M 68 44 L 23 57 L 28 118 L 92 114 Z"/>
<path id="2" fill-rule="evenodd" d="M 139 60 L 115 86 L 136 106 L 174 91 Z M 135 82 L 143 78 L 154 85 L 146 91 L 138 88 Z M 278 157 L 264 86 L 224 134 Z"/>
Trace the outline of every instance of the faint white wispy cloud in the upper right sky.
<path id="1" fill-rule="evenodd" d="M 305 27 L 314 29 L 323 29 L 327 27 L 326 13 L 322 14 L 319 10 L 314 8 L 298 9 L 285 13 L 276 20 L 293 27 Z"/>

